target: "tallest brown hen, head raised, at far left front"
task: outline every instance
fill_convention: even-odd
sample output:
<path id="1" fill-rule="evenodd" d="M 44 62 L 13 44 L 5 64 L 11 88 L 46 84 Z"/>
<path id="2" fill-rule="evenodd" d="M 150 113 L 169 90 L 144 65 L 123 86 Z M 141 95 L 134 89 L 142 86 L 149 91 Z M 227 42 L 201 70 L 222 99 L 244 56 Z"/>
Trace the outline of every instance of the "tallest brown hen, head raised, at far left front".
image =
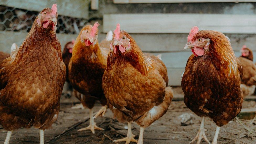
<path id="1" fill-rule="evenodd" d="M 66 67 L 56 37 L 57 4 L 42 10 L 17 52 L 0 63 L 0 124 L 8 130 L 34 126 L 40 144 L 57 120 Z"/>

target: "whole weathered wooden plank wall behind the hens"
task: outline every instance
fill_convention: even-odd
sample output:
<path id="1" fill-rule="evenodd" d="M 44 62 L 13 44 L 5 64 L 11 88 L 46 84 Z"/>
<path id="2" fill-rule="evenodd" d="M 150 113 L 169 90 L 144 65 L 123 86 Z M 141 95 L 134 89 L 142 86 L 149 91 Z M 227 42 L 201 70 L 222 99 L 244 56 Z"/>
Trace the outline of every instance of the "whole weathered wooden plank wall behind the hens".
<path id="1" fill-rule="evenodd" d="M 98 10 L 90 10 L 90 2 L 96 4 L 95 9 L 98 2 Z M 181 74 L 192 54 L 189 50 L 183 50 L 183 47 L 187 34 L 194 25 L 201 30 L 224 32 L 230 37 L 236 56 L 240 56 L 239 50 L 244 44 L 256 54 L 256 4 L 249 2 L 256 0 L 8 0 L 1 1 L 0 4 L 40 11 L 57 3 L 60 15 L 99 21 L 99 32 L 104 33 L 113 31 L 116 23 L 120 23 L 121 29 L 131 33 L 143 52 L 162 54 L 162 60 L 168 68 L 169 85 L 180 86 Z M 99 34 L 99 41 L 105 37 L 104 33 Z M 22 43 L 26 35 L 27 33 L 22 32 L 1 32 L 0 40 L 12 37 Z M 57 36 L 63 47 L 67 41 L 76 38 L 77 34 Z M 5 45 L 11 45 L 12 42 L 7 41 Z"/>

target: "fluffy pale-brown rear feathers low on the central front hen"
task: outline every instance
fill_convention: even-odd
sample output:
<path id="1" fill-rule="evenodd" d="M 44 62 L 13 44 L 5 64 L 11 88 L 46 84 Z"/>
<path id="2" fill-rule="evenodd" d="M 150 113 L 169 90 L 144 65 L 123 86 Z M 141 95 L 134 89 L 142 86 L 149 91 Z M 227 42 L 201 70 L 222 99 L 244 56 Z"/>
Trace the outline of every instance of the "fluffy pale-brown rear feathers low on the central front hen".
<path id="1" fill-rule="evenodd" d="M 154 121 L 161 118 L 168 110 L 170 103 L 172 102 L 173 91 L 171 87 L 166 87 L 165 97 L 161 104 L 154 106 L 150 111 L 142 115 L 136 120 L 137 124 L 143 127 L 151 125 Z"/>

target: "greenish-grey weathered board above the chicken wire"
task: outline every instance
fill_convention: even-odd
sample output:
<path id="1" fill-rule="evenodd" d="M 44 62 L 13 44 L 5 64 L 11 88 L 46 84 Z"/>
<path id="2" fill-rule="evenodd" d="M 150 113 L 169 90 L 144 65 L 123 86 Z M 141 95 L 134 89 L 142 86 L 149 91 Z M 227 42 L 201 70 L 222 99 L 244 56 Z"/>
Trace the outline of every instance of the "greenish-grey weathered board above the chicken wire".
<path id="1" fill-rule="evenodd" d="M 26 2 L 24 0 L 8 0 L 1 2 L 1 5 L 40 12 L 57 3 L 59 15 L 88 19 L 89 2 L 84 0 L 76 0 L 76 2 L 72 0 L 26 0 Z"/>

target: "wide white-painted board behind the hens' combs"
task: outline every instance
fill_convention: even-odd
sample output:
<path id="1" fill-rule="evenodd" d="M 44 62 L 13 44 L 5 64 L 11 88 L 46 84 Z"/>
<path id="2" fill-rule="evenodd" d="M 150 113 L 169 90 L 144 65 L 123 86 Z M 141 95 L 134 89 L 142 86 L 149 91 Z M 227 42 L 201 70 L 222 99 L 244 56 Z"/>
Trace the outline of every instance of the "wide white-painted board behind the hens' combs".
<path id="1" fill-rule="evenodd" d="M 128 33 L 184 33 L 191 27 L 216 30 L 226 34 L 256 34 L 256 15 L 237 14 L 104 14 L 103 31 L 121 30 Z"/>

